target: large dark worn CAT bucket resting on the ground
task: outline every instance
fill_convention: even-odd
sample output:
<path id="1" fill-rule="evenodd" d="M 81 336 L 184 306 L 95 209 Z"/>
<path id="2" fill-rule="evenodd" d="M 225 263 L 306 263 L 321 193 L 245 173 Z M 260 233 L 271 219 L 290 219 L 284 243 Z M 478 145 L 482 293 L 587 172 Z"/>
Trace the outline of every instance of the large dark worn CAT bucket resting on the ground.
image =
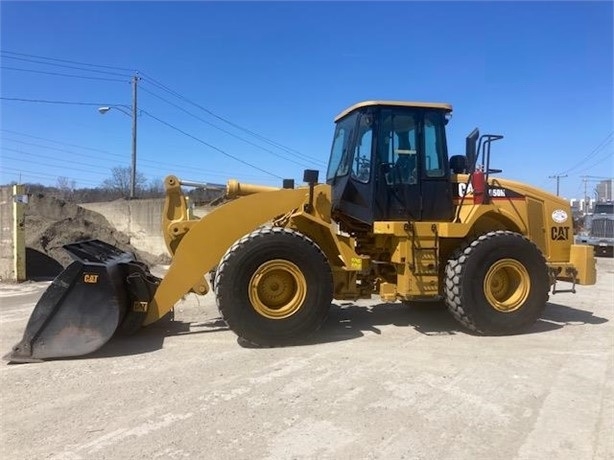
<path id="1" fill-rule="evenodd" d="M 5 360 L 81 356 L 98 350 L 115 333 L 141 327 L 160 280 L 133 254 L 99 240 L 64 249 L 74 262 L 43 293 L 22 340 Z"/>

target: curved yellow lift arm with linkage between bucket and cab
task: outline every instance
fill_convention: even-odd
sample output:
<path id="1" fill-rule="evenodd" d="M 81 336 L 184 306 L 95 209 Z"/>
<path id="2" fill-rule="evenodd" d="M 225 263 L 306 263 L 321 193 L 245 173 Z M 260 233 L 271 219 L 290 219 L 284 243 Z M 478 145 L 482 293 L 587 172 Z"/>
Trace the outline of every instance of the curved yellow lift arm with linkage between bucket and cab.
<path id="1" fill-rule="evenodd" d="M 199 220 L 189 220 L 182 181 L 169 176 L 165 184 L 163 233 L 173 260 L 149 304 L 144 325 L 167 314 L 188 292 L 200 295 L 209 292 L 205 274 L 218 264 L 227 249 L 241 237 L 276 219 L 278 225 L 297 228 L 318 241 L 339 280 L 336 285 L 343 286 L 345 291 L 350 287 L 347 278 L 365 264 L 352 242 L 332 230 L 328 185 L 312 183 L 309 187 L 280 189 L 231 180 L 227 196 L 238 199 L 215 208 Z M 359 293 L 349 295 L 360 296 Z"/>

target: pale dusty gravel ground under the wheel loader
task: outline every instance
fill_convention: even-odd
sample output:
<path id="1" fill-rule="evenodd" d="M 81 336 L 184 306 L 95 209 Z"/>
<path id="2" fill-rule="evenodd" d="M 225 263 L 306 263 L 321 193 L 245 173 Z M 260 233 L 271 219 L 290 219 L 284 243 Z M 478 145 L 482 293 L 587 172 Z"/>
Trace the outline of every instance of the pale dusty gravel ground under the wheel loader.
<path id="1" fill-rule="evenodd" d="M 0 364 L 5 459 L 612 459 L 614 260 L 526 334 L 445 309 L 337 303 L 317 337 L 249 349 L 211 295 L 81 359 Z M 0 346 L 49 283 L 0 285 Z"/>

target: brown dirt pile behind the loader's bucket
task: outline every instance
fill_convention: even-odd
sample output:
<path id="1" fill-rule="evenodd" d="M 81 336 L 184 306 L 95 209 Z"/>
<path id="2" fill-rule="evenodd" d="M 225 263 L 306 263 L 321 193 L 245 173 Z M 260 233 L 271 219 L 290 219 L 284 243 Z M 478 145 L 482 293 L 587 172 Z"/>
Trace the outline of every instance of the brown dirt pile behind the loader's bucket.
<path id="1" fill-rule="evenodd" d="M 62 246 L 90 239 L 102 240 L 123 251 L 132 252 L 147 264 L 160 263 L 157 257 L 137 251 L 130 245 L 130 237 L 116 230 L 101 214 L 52 196 L 35 194 L 29 197 L 25 227 L 26 247 L 29 248 L 26 264 L 32 265 L 33 262 L 36 267 L 32 269 L 41 268 L 40 256 L 47 256 L 66 267 L 72 259 Z M 39 257 L 30 257 L 36 251 Z"/>

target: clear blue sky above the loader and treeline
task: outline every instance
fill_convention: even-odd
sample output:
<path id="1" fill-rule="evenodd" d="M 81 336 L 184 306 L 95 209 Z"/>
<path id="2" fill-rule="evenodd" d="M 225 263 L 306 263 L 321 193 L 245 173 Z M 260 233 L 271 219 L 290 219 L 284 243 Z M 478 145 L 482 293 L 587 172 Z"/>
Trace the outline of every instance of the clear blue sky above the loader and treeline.
<path id="1" fill-rule="evenodd" d="M 449 102 L 450 154 L 476 126 L 503 134 L 503 177 L 554 192 L 549 176 L 567 174 L 567 197 L 581 176 L 614 175 L 612 2 L 2 2 L 0 15 L 4 98 L 129 105 L 141 72 L 149 179 L 323 178 L 334 116 L 367 99 Z M 0 103 L 2 184 L 92 187 L 129 165 L 119 111 Z"/>

